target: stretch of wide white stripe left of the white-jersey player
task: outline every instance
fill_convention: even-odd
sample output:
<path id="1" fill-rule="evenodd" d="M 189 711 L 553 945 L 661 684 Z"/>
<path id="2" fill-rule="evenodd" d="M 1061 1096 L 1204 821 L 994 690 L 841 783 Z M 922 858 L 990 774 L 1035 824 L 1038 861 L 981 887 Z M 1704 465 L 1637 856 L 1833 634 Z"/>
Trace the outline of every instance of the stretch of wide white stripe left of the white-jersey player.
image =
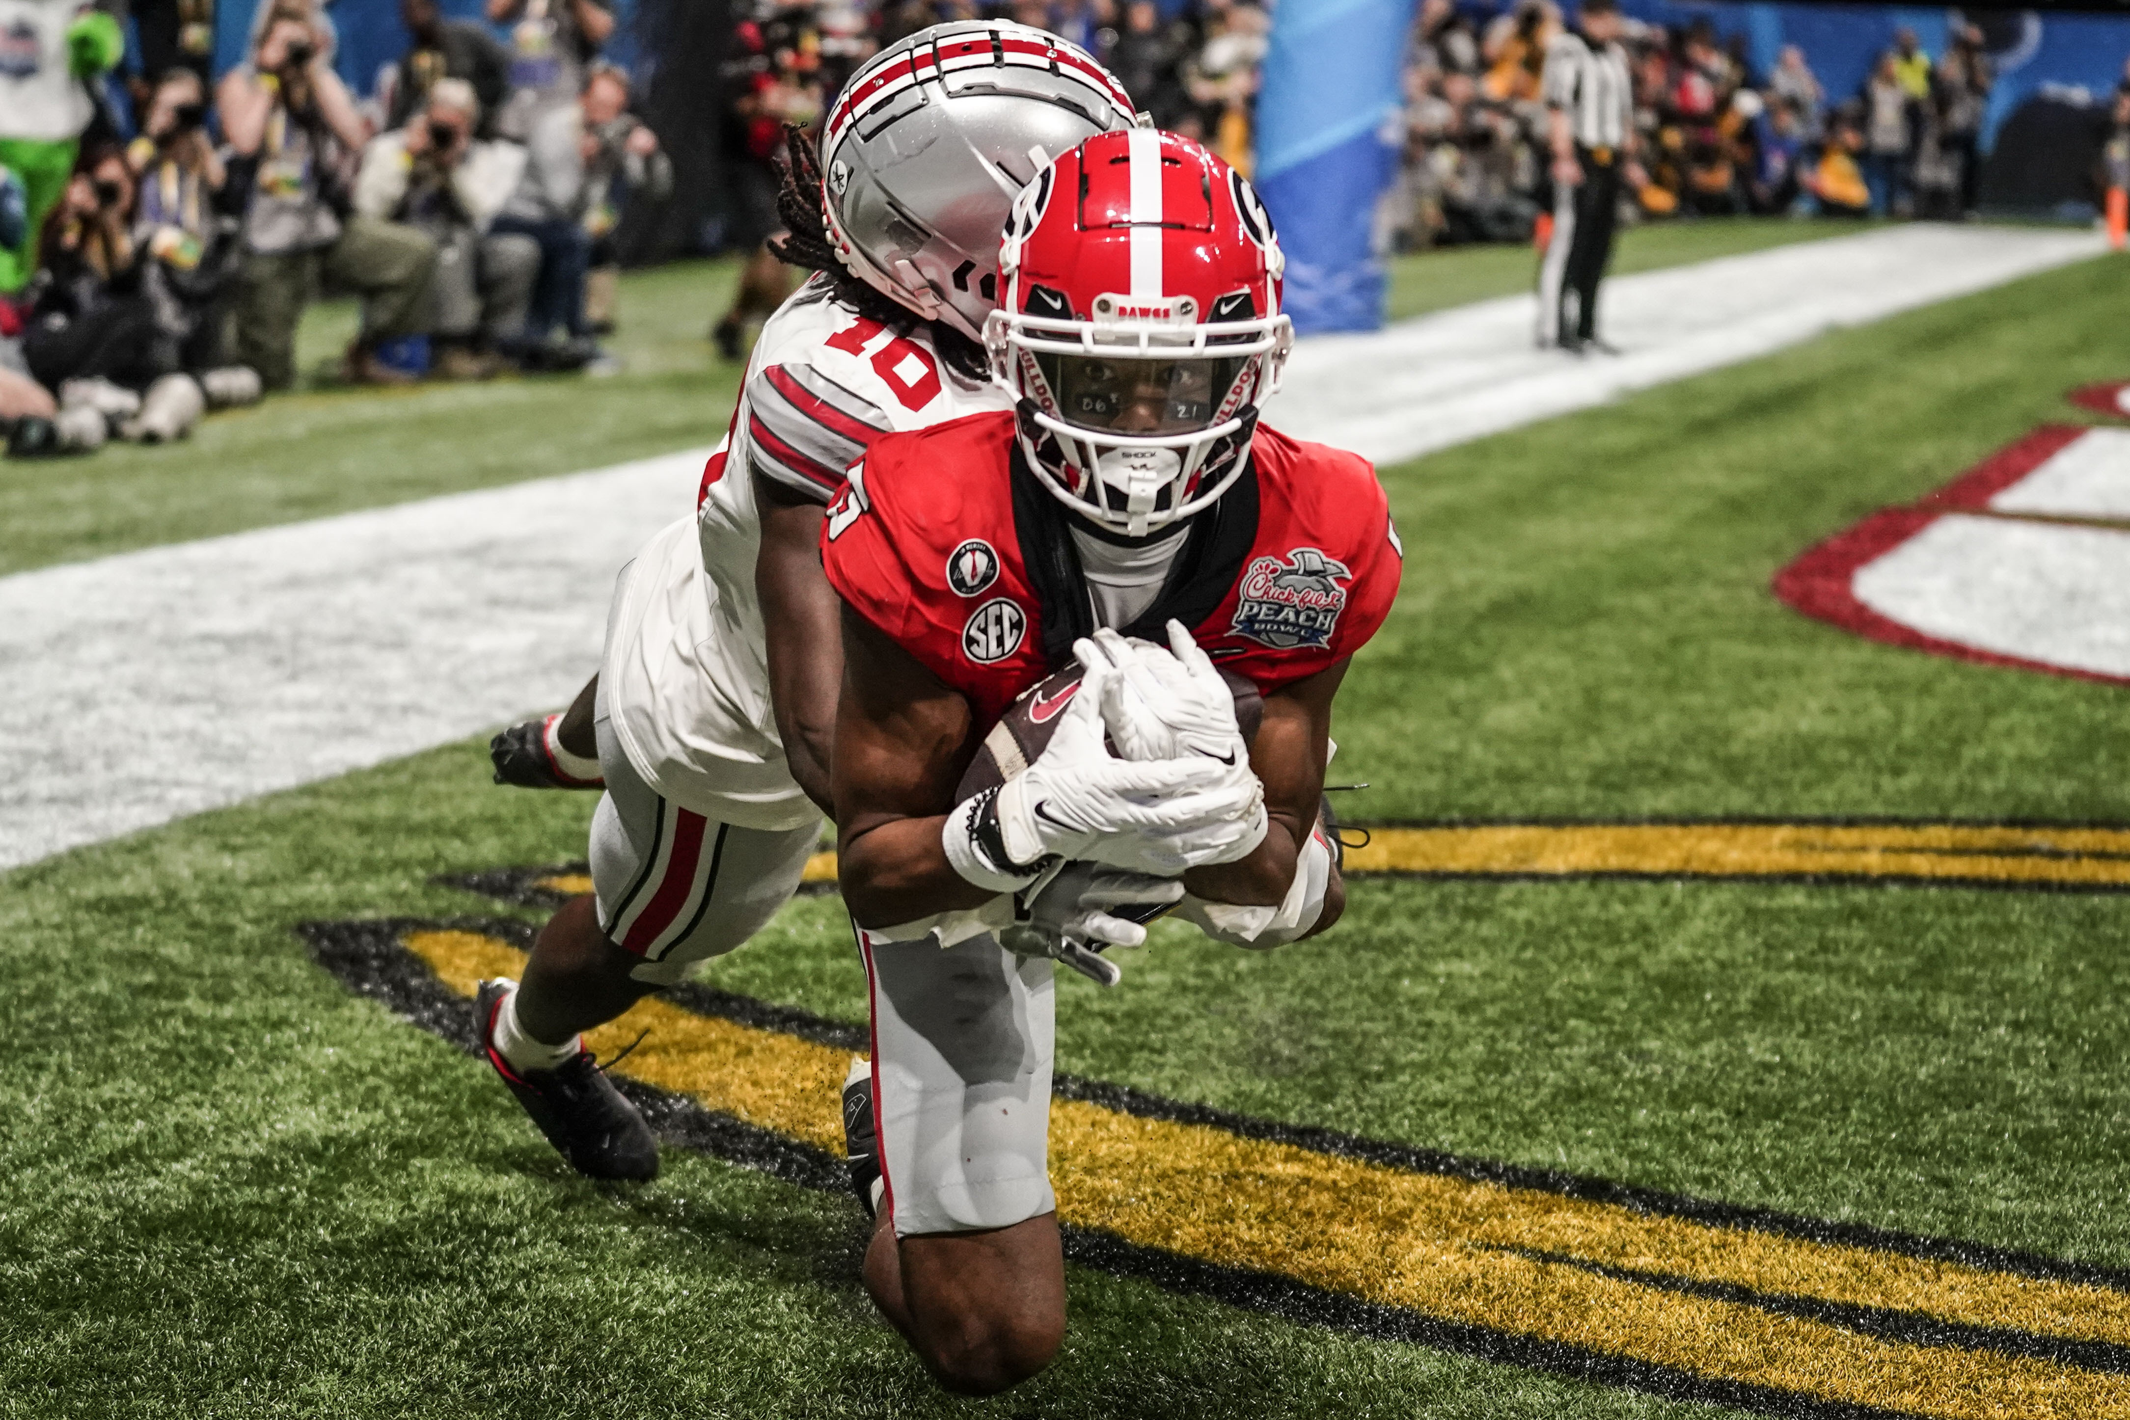
<path id="1" fill-rule="evenodd" d="M 569 703 L 707 453 L 0 579 L 0 869 Z"/>

